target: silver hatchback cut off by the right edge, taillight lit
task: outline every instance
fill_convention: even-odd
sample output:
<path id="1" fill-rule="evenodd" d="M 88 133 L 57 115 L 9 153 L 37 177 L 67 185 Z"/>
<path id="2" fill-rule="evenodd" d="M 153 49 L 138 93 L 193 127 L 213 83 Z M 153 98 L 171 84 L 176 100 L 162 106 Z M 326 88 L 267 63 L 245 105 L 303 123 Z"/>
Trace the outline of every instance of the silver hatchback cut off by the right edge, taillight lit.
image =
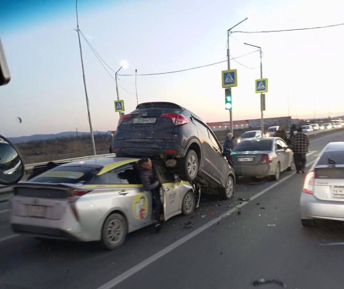
<path id="1" fill-rule="evenodd" d="M 344 221 L 344 142 L 327 144 L 304 178 L 300 204 L 301 223 L 314 219 Z"/>

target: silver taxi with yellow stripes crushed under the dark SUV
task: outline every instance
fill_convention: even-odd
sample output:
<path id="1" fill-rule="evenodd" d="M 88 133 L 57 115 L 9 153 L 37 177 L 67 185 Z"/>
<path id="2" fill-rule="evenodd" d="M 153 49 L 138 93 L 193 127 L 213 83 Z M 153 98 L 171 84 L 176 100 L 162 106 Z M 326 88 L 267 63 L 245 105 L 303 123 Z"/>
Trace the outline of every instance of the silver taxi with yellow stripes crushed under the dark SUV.
<path id="1" fill-rule="evenodd" d="M 10 201 L 12 230 L 40 238 L 100 241 L 107 249 L 121 246 L 127 233 L 154 223 L 151 193 L 140 183 L 138 160 L 72 162 L 19 182 Z M 153 167 L 162 184 L 164 220 L 191 214 L 194 187 L 158 161 Z"/>

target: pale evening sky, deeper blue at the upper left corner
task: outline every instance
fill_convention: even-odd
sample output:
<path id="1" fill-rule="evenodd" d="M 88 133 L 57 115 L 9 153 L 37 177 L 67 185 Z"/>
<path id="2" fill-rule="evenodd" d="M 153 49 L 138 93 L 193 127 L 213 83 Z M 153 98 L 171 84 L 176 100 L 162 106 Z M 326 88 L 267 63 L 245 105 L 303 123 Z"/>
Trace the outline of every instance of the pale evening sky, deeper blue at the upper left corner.
<path id="1" fill-rule="evenodd" d="M 88 131 L 80 64 L 75 1 L 1 0 L 0 36 L 11 82 L 0 88 L 1 133 L 13 137 L 61 131 Z M 340 1 L 110 1 L 78 0 L 79 28 L 114 70 L 159 73 L 226 60 L 226 31 L 262 31 L 343 23 Z M 343 114 L 344 26 L 299 32 L 230 37 L 234 57 L 261 46 L 263 77 L 269 79 L 266 117 L 309 118 Z M 82 38 L 94 130 L 115 130 L 118 113 L 114 80 Z M 259 53 L 233 60 L 238 86 L 232 89 L 234 120 L 260 118 Z M 229 119 L 224 109 L 221 70 L 226 63 L 157 76 L 138 76 L 139 102 L 171 101 L 205 121 Z M 111 72 L 112 73 L 112 72 Z M 114 74 L 112 73 L 114 77 Z M 126 113 L 136 106 L 135 77 L 119 76 Z M 22 123 L 16 118 L 20 116 Z"/>

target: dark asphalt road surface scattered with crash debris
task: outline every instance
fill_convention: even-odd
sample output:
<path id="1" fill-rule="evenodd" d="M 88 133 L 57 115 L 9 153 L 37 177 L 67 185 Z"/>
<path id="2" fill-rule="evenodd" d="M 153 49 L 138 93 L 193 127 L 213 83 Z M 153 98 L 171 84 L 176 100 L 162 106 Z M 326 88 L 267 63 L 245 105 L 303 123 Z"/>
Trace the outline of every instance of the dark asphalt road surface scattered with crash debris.
<path id="1" fill-rule="evenodd" d="M 309 165 L 330 141 L 344 141 L 344 133 L 312 141 Z M 193 215 L 171 218 L 160 234 L 152 227 L 130 233 L 110 252 L 95 242 L 13 236 L 2 224 L 0 288 L 251 288 L 260 278 L 293 289 L 342 288 L 343 223 L 301 226 L 303 177 L 293 169 L 279 182 L 240 179 L 232 199 L 203 197 Z"/>

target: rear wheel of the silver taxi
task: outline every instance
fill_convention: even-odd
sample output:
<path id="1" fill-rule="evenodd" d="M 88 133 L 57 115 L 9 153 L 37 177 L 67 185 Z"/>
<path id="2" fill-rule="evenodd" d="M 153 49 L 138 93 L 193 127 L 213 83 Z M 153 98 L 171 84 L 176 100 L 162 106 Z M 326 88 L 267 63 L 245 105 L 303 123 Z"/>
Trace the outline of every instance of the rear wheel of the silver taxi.
<path id="1" fill-rule="evenodd" d="M 120 247 L 126 240 L 128 226 L 125 218 L 118 213 L 110 214 L 101 230 L 101 245 L 108 250 Z"/>

